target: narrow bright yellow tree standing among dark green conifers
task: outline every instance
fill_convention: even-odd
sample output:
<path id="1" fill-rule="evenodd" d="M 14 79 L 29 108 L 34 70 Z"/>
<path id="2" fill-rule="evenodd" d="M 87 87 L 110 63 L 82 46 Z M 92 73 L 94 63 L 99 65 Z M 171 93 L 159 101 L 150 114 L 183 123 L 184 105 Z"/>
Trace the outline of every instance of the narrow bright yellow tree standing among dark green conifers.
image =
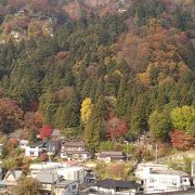
<path id="1" fill-rule="evenodd" d="M 90 98 L 86 98 L 81 104 L 81 121 L 86 125 L 89 121 L 93 108 L 93 104 Z"/>

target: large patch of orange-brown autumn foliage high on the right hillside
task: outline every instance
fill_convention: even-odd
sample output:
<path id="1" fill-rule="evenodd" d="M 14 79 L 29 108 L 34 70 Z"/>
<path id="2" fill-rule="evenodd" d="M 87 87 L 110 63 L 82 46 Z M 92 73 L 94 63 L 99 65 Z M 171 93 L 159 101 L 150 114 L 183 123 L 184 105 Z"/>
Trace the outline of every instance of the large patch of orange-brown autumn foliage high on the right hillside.
<path id="1" fill-rule="evenodd" d="M 132 32 L 122 34 L 115 44 L 118 61 L 125 58 L 135 72 L 145 69 L 138 74 L 139 83 L 145 87 L 173 80 L 188 70 L 180 54 L 187 36 L 162 28 L 156 18 L 152 18 L 148 26 L 144 38 Z"/>

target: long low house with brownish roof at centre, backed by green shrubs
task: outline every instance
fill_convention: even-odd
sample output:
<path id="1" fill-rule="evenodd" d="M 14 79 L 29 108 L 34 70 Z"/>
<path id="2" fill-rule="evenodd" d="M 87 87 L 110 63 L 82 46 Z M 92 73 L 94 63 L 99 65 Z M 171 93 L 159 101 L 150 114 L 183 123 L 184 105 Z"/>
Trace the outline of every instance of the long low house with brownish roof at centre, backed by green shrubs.
<path id="1" fill-rule="evenodd" d="M 127 155 L 125 155 L 122 152 L 102 152 L 98 155 L 98 160 L 103 160 L 105 162 L 110 162 L 113 160 L 119 160 L 123 161 L 127 160 Z"/>

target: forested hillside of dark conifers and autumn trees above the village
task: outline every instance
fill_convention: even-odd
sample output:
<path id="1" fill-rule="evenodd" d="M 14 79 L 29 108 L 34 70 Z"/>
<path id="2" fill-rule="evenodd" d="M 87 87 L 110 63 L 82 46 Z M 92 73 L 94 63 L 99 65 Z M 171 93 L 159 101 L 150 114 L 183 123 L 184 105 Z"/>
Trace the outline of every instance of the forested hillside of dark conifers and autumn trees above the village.
<path id="1" fill-rule="evenodd" d="M 109 14 L 90 0 L 30 2 L 0 1 L 3 133 L 30 135 L 46 123 L 92 152 L 146 132 L 154 143 L 195 146 L 194 0 L 123 1 L 122 12 L 107 1 Z M 41 24 L 51 17 L 53 35 L 15 15 L 24 6 Z M 10 37 L 13 28 L 24 38 Z"/>

